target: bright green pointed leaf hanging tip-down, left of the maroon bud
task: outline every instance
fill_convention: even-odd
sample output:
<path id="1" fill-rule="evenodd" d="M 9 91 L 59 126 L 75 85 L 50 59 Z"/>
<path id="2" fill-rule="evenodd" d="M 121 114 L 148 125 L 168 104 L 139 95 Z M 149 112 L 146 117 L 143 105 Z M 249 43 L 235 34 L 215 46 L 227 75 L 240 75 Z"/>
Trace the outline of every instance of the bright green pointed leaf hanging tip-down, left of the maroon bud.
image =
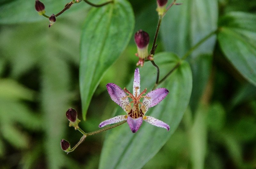
<path id="1" fill-rule="evenodd" d="M 106 70 L 127 46 L 133 26 L 132 7 L 125 0 L 92 8 L 88 13 L 81 39 L 79 72 L 84 120 L 93 93 Z"/>

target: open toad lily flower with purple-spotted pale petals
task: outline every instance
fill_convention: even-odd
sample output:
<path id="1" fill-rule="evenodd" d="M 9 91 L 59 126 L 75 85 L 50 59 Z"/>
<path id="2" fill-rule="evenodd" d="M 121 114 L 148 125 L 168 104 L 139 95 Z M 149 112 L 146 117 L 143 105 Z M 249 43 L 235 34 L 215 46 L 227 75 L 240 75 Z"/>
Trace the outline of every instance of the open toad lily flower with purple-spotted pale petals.
<path id="1" fill-rule="evenodd" d="M 99 127 L 104 127 L 108 124 L 114 124 L 120 121 L 127 121 L 132 132 L 136 133 L 139 130 L 142 121 L 146 121 L 156 127 L 162 127 L 167 129 L 168 131 L 170 130 L 170 126 L 163 121 L 160 121 L 151 116 L 145 116 L 148 108 L 156 106 L 166 97 L 169 91 L 165 88 L 158 88 L 149 92 L 148 94 L 146 94 L 146 96 L 142 96 L 146 93 L 147 89 L 143 90 L 140 93 L 140 72 L 138 68 L 136 68 L 134 72 L 133 94 L 129 92 L 126 88 L 124 88 L 123 90 L 114 83 L 108 83 L 106 86 L 110 98 L 120 107 L 122 107 L 127 114 L 118 115 L 111 119 L 102 121 Z M 132 101 L 129 102 L 128 98 L 131 98 Z M 142 102 L 140 102 L 141 98 L 143 98 Z"/>

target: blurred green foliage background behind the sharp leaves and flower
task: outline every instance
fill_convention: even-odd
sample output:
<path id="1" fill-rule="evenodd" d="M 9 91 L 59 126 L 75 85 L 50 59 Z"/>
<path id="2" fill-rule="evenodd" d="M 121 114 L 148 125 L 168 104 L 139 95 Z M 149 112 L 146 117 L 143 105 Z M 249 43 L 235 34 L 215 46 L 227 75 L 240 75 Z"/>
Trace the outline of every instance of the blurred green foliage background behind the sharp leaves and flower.
<path id="1" fill-rule="evenodd" d="M 81 137 L 68 127 L 65 112 L 75 108 L 82 119 L 79 42 L 90 7 L 83 2 L 72 6 L 49 29 L 48 20 L 34 10 L 34 1 L 21 2 L 0 1 L 0 168 L 98 168 L 105 133 L 86 138 L 68 155 L 60 149 L 60 139 L 75 145 Z M 129 2 L 135 13 L 134 33 L 146 30 L 152 43 L 156 2 Z M 44 2 L 49 14 L 68 1 L 51 3 Z M 218 5 L 219 16 L 230 11 L 256 14 L 256 1 L 219 0 Z M 157 52 L 164 50 L 159 36 Z M 87 120 L 80 123 L 86 132 L 112 116 L 116 104 L 105 85 L 127 85 L 136 68 L 134 53 L 132 39 L 92 98 Z M 210 77 L 199 106 L 188 107 L 178 129 L 143 168 L 256 168 L 256 87 L 224 57 L 218 44 L 206 69 Z M 200 117 L 207 120 L 201 123 Z"/>

